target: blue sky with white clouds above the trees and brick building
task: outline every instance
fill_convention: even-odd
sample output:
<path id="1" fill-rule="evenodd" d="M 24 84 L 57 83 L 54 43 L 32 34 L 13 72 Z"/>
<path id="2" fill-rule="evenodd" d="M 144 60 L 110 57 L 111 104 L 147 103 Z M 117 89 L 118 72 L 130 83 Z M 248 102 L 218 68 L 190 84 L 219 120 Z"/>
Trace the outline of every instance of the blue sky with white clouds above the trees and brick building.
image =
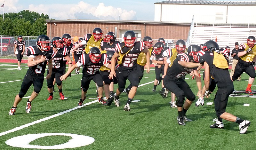
<path id="1" fill-rule="evenodd" d="M 56 20 L 118 20 L 120 14 L 120 20 L 153 21 L 156 2 L 161 0 L 0 0 L 0 13 L 29 10 Z"/>

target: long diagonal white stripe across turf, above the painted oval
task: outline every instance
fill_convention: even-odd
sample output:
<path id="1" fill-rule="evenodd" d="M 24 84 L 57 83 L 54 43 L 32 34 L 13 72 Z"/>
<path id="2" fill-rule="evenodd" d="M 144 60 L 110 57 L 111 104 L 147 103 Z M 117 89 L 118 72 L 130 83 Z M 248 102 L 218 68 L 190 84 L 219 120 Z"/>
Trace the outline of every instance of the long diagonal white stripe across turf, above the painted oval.
<path id="1" fill-rule="evenodd" d="M 147 85 L 147 84 L 150 84 L 150 83 L 154 83 L 154 81 L 148 82 L 148 83 L 144 83 L 144 84 L 140 84 L 138 87 L 143 86 L 143 85 Z M 53 115 L 51 115 L 51 116 L 49 116 L 49 117 L 45 117 L 45 118 L 36 120 L 36 121 L 34 121 L 34 122 L 30 122 L 30 123 L 24 124 L 24 125 L 22 125 L 22 126 L 16 127 L 16 128 L 14 128 L 14 129 L 11 129 L 11 130 L 8 130 L 8 131 L 4 131 L 4 132 L 0 133 L 0 137 L 3 136 L 3 135 L 5 135 L 5 134 L 8 134 L 8 133 L 11 133 L 11 132 L 15 132 L 15 131 L 21 130 L 21 129 L 23 129 L 23 128 L 26 128 L 26 127 L 29 127 L 29 126 L 31 126 L 31 125 L 34 125 L 34 124 L 36 124 L 36 123 L 40 123 L 40 122 L 43 122 L 43 121 L 52 119 L 52 118 L 57 117 L 57 116 L 59 116 L 59 115 L 66 114 L 66 113 L 68 113 L 68 112 L 71 112 L 72 110 L 76 110 L 76 109 L 78 109 L 78 108 L 82 108 L 82 107 L 84 107 L 84 106 L 87 106 L 87 105 L 90 105 L 90 104 L 93 104 L 93 103 L 96 103 L 96 102 L 98 102 L 98 100 L 94 100 L 94 101 L 91 101 L 91 102 L 89 102 L 89 103 L 86 103 L 86 104 L 84 104 L 84 105 L 82 105 L 82 106 L 77 106 L 77 107 L 74 107 L 74 108 L 65 110 L 65 111 L 63 111 L 63 112 L 60 112 L 60 113 L 58 113 L 58 114 L 53 114 Z"/>

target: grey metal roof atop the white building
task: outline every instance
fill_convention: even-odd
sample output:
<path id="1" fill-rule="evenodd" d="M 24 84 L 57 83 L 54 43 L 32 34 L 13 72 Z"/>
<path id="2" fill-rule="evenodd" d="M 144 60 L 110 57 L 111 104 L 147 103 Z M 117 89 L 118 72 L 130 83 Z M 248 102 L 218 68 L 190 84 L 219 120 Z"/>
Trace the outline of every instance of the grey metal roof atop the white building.
<path id="1" fill-rule="evenodd" d="M 256 5 L 256 1 L 193 1 L 193 0 L 174 0 L 174 1 L 156 2 L 154 4 Z"/>

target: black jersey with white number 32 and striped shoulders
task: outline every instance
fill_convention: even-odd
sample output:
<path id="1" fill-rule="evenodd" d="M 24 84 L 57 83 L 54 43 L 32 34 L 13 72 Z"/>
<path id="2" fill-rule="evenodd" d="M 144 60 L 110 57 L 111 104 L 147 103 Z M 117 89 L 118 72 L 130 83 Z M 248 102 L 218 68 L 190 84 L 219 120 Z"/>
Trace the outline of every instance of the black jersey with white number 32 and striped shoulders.
<path id="1" fill-rule="evenodd" d="M 83 67 L 83 75 L 94 75 L 99 72 L 100 67 L 108 62 L 107 54 L 101 54 L 100 61 L 98 63 L 94 63 L 91 61 L 89 54 L 83 54 L 79 57 L 77 66 Z"/>

